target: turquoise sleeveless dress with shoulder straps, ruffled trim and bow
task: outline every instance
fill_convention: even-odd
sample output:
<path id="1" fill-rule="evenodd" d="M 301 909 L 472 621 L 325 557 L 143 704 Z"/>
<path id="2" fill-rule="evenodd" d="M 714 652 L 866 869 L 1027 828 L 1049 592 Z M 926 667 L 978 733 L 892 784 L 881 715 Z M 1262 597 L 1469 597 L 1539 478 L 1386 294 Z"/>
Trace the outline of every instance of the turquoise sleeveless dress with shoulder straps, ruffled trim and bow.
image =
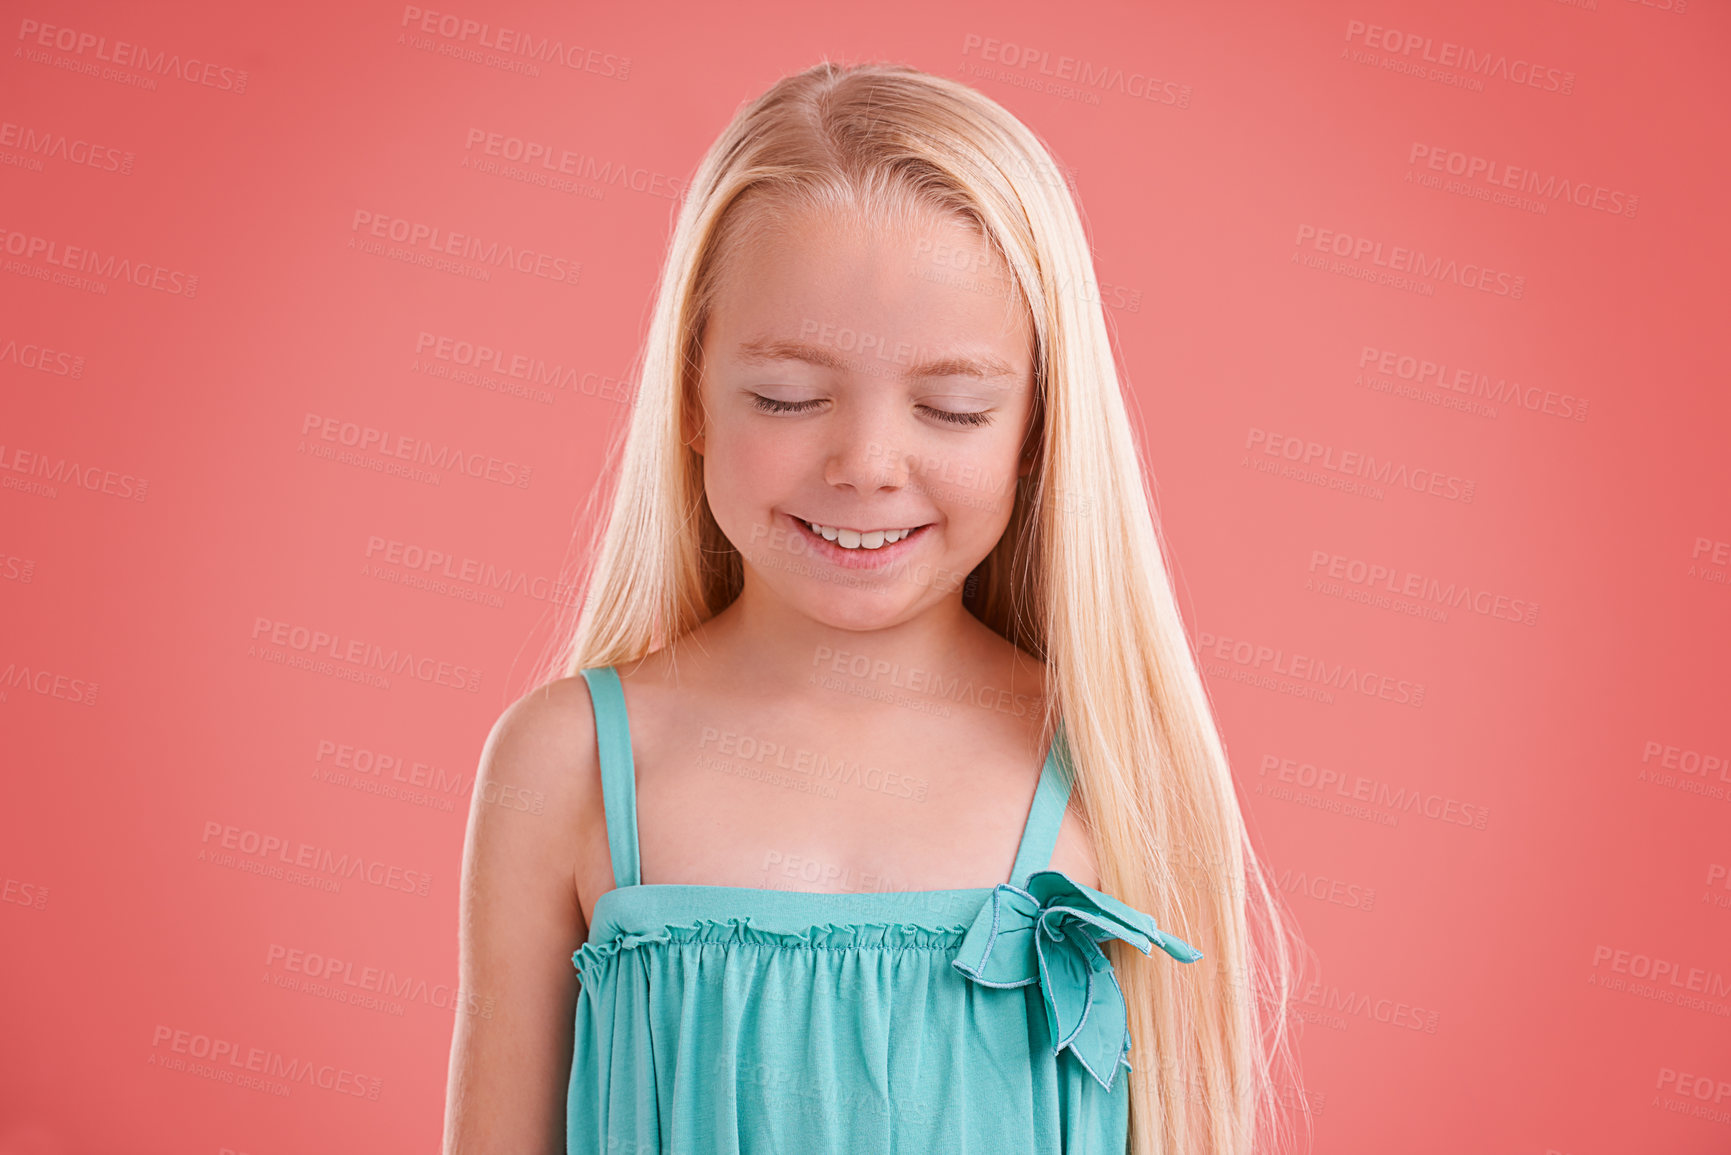
<path id="1" fill-rule="evenodd" d="M 569 1155 L 1122 1155 L 1130 1036 L 1099 944 L 1201 954 L 1044 869 L 1071 786 L 1063 727 L 1011 883 L 644 885 L 625 694 L 613 667 L 583 677 L 616 888 L 571 958 Z"/>

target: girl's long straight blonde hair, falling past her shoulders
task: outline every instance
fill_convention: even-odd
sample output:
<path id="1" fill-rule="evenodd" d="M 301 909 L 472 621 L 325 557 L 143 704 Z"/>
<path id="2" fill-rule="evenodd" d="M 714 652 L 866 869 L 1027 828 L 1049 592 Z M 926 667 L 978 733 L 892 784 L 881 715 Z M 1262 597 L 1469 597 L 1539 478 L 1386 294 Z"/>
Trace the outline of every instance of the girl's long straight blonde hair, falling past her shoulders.
<path id="1" fill-rule="evenodd" d="M 1279 1082 L 1293 1060 L 1290 916 L 1250 847 L 1172 594 L 1082 216 L 1058 173 L 1004 107 L 912 68 L 824 62 L 743 106 L 679 210 L 630 421 L 602 474 L 611 509 L 595 516 L 597 488 L 583 597 L 545 672 L 635 661 L 741 590 L 739 551 L 710 514 L 687 436 L 717 268 L 750 222 L 886 196 L 968 222 L 1032 312 L 1039 461 L 964 603 L 1046 661 L 1101 888 L 1205 952 L 1181 966 L 1110 944 L 1130 1008 L 1130 1150 L 1271 1150 L 1284 1132 L 1276 1105 L 1293 1087 Z"/>

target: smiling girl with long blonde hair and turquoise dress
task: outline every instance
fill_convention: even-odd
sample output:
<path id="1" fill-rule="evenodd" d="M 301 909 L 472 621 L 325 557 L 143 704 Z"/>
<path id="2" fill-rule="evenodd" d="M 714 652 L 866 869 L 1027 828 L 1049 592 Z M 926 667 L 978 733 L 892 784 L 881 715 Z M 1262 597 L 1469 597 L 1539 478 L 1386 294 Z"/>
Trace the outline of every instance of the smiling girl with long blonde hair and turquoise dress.
<path id="1" fill-rule="evenodd" d="M 481 755 L 447 1152 L 1274 1122 L 1290 947 L 1056 171 L 827 62 L 703 159 L 582 610 Z"/>

